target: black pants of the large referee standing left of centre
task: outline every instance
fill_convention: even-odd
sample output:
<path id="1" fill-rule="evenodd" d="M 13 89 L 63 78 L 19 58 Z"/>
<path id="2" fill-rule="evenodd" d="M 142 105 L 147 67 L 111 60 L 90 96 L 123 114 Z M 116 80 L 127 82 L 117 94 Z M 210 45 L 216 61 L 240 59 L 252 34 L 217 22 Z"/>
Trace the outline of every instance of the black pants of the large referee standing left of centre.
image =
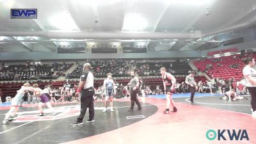
<path id="1" fill-rule="evenodd" d="M 81 91 L 81 111 L 77 118 L 77 122 L 83 122 L 87 108 L 89 108 L 89 119 L 92 120 L 94 118 L 93 95 L 94 88 L 87 88 Z"/>

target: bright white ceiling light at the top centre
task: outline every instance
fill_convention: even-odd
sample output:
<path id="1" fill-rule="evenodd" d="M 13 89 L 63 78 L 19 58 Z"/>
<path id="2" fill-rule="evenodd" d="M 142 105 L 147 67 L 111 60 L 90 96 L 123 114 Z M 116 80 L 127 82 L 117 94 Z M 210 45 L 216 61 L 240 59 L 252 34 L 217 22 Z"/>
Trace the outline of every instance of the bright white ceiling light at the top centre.
<path id="1" fill-rule="evenodd" d="M 123 31 L 143 31 L 147 28 L 147 20 L 139 13 L 127 13 L 124 17 Z"/>

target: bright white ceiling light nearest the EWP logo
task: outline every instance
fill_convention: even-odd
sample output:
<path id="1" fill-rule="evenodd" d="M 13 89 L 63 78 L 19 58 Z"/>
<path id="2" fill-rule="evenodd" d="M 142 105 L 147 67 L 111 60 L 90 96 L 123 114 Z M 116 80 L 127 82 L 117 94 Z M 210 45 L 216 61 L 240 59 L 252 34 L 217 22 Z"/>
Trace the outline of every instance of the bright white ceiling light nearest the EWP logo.
<path id="1" fill-rule="evenodd" d="M 60 29 L 61 31 L 78 31 L 79 28 L 77 27 L 74 19 L 68 11 L 63 11 L 60 13 L 56 13 L 52 15 L 49 19 L 49 23 Z"/>

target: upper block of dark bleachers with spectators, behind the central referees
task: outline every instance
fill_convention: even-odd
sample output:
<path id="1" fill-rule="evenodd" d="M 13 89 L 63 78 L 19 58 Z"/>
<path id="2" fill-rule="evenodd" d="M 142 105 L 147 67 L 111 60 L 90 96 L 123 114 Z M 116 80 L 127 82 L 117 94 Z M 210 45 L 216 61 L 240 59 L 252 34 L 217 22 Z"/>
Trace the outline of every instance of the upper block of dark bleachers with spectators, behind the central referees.
<path id="1" fill-rule="evenodd" d="M 159 73 L 160 67 L 166 67 L 168 72 L 173 75 L 186 75 L 192 68 L 185 61 L 163 62 L 163 61 L 136 61 L 136 60 L 86 60 L 93 67 L 95 77 L 105 77 L 108 72 L 113 74 L 113 77 L 128 76 L 130 71 L 135 71 L 139 76 L 161 76 Z M 68 78 L 79 78 L 82 65 L 79 65 L 73 72 L 68 74 Z"/>

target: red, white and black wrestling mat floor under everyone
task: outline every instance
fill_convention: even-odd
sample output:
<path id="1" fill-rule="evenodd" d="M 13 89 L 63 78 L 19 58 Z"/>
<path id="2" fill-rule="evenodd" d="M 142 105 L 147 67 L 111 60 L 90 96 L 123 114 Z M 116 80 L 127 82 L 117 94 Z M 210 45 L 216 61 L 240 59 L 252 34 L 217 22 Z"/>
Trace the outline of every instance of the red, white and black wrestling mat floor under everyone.
<path id="1" fill-rule="evenodd" d="M 143 109 L 128 112 L 129 99 L 114 102 L 115 112 L 102 113 L 104 103 L 95 102 L 95 123 L 70 127 L 79 115 L 79 103 L 54 104 L 56 116 L 37 116 L 34 105 L 25 104 L 17 120 L 0 126 L 1 143 L 256 143 L 256 118 L 249 100 L 228 102 L 221 95 L 196 93 L 195 105 L 188 95 L 173 95 L 178 112 L 164 115 L 164 95 L 140 98 Z M 7 105 L 7 104 L 6 104 Z M 10 106 L 0 106 L 0 118 Z M 45 109 L 47 113 L 47 109 Z M 50 113 L 48 113 L 50 114 Z M 207 140 L 209 129 L 245 129 L 250 140 Z M 227 132 L 223 134 L 227 138 Z M 186 138 L 185 138 L 186 137 Z"/>

